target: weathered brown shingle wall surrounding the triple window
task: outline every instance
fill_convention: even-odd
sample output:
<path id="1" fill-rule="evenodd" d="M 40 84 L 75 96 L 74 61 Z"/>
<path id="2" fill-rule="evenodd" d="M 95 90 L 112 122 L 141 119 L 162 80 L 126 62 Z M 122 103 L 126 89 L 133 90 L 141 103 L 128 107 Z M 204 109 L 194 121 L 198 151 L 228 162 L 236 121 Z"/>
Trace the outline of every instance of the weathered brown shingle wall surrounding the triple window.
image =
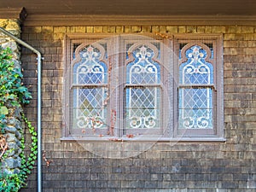
<path id="1" fill-rule="evenodd" d="M 156 143 L 136 157 L 105 159 L 76 142 L 61 142 L 66 32 L 224 34 L 225 143 Z M 43 61 L 43 188 L 57 191 L 253 191 L 256 188 L 256 27 L 26 26 L 22 39 Z M 36 55 L 22 49 L 25 83 L 34 100 L 26 114 L 36 125 Z M 36 170 L 35 170 L 36 172 Z M 36 176 L 22 192 L 36 190 Z"/>

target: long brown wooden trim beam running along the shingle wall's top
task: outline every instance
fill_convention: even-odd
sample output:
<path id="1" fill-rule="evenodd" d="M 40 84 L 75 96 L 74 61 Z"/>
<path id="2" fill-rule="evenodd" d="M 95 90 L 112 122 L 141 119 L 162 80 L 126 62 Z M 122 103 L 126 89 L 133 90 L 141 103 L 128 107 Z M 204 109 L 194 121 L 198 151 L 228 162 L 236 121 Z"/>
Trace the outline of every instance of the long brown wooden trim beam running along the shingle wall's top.
<path id="1" fill-rule="evenodd" d="M 24 26 L 256 26 L 256 15 L 28 15 Z"/>

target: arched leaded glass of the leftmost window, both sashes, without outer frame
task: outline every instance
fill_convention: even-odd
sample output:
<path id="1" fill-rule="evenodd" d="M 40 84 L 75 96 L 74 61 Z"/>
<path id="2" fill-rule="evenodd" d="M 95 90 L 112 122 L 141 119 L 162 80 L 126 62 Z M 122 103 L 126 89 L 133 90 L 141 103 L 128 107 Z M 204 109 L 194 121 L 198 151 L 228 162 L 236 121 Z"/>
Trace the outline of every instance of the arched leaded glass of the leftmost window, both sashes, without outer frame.
<path id="1" fill-rule="evenodd" d="M 108 68 L 100 61 L 100 49 L 87 45 L 73 65 L 73 126 L 81 129 L 106 127 Z"/>

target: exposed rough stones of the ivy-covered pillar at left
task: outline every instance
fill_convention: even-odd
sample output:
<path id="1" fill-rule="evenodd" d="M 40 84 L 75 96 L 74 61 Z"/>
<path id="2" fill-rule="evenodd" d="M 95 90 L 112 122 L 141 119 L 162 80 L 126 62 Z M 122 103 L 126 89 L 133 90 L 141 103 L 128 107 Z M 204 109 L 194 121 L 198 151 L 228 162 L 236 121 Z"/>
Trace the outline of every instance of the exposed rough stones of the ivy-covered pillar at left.
<path id="1" fill-rule="evenodd" d="M 1 20 L 0 26 L 11 32 L 15 37 L 20 38 L 20 21 L 19 20 Z M 20 47 L 11 38 L 3 35 L 0 32 L 0 46 L 3 48 L 10 48 L 13 51 L 13 61 L 15 62 L 15 67 L 20 67 Z M 20 132 L 22 127 L 20 124 L 20 110 L 21 108 L 10 108 L 7 117 L 7 125 L 4 127 L 4 136 L 6 137 L 8 143 L 9 153 L 7 158 L 3 163 L 4 172 L 20 172 L 21 160 L 21 145 L 20 139 L 22 135 Z"/>

